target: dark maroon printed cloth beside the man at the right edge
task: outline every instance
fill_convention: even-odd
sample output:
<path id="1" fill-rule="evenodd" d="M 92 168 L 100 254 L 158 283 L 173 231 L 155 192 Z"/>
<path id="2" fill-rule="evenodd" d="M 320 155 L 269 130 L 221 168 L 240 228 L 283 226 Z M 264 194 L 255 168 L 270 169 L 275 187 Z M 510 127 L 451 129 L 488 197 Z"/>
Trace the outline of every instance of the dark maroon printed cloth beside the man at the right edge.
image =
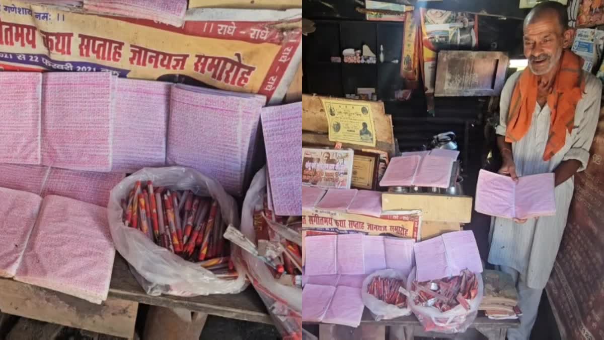
<path id="1" fill-rule="evenodd" d="M 604 110 L 546 286 L 561 338 L 604 339 Z"/>

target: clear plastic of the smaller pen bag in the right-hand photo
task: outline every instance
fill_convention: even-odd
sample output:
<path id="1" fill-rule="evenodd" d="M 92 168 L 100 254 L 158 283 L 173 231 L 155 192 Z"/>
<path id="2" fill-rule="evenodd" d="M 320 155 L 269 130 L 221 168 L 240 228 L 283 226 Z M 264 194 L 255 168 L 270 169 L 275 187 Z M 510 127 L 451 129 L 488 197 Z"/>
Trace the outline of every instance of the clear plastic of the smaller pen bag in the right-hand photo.
<path id="1" fill-rule="evenodd" d="M 387 304 L 386 302 L 377 299 L 375 296 L 367 292 L 367 287 L 371 283 L 371 280 L 373 280 L 373 278 L 376 276 L 381 278 L 396 278 L 402 280 L 403 283 L 405 283 L 405 286 L 407 281 L 405 273 L 395 269 L 377 270 L 377 272 L 373 272 L 371 275 L 367 276 L 365 280 L 363 280 L 363 286 L 361 287 L 361 298 L 363 299 L 365 307 L 371 311 L 373 318 L 376 321 L 380 321 L 382 319 L 388 320 L 399 318 L 400 316 L 410 315 L 411 309 L 409 308 L 409 299 L 407 299 L 406 308 L 399 308 L 391 304 Z"/>

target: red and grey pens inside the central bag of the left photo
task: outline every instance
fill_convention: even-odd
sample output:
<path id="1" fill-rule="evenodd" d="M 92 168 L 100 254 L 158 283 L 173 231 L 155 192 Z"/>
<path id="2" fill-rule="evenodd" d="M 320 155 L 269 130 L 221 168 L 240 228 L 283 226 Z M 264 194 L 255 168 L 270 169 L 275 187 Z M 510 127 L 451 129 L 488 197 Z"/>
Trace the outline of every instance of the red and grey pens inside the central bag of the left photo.
<path id="1" fill-rule="evenodd" d="M 123 200 L 124 224 L 147 235 L 158 246 L 185 260 L 198 262 L 225 280 L 237 278 L 220 206 L 210 197 L 190 190 L 153 188 L 152 181 L 137 181 Z"/>

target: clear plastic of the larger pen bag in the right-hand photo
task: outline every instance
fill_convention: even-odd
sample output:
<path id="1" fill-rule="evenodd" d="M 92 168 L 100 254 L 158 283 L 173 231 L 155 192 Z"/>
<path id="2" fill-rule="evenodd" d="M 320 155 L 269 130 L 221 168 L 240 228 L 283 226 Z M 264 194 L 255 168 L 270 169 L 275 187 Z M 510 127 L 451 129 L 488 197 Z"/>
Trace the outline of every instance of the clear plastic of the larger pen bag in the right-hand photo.
<path id="1" fill-rule="evenodd" d="M 407 290 L 411 293 L 412 297 L 408 298 L 407 301 L 411 311 L 417 317 L 420 324 L 423 325 L 426 332 L 449 334 L 466 332 L 478 315 L 478 306 L 480 306 L 484 294 L 483 276 L 480 273 L 475 273 L 475 275 L 478 280 L 478 293 L 474 299 L 469 301 L 470 310 L 457 305 L 451 310 L 442 313 L 433 307 L 416 306 L 414 304 L 412 297 L 415 293 L 411 289 L 411 286 L 416 278 L 416 267 L 413 267 L 407 280 Z"/>

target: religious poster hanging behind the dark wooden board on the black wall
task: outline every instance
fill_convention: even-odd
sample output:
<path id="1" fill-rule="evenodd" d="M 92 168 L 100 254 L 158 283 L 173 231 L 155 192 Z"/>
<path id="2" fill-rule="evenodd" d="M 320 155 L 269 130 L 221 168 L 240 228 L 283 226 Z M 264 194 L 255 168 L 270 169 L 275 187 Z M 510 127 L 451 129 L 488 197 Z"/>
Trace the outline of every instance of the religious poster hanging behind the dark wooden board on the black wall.
<path id="1" fill-rule="evenodd" d="M 423 82 L 434 93 L 440 50 L 467 50 L 478 45 L 478 15 L 422 8 Z"/>

